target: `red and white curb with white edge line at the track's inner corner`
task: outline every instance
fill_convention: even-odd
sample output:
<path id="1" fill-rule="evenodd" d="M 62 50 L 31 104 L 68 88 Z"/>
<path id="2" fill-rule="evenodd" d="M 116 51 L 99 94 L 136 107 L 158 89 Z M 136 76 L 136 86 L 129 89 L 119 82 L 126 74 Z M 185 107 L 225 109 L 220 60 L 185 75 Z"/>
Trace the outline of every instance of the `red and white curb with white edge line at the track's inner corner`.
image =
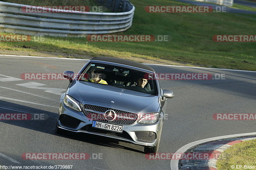
<path id="1" fill-rule="evenodd" d="M 208 153 L 210 159 L 204 160 L 176 160 L 170 162 L 171 170 L 217 170 L 216 162 L 220 153 L 230 146 L 246 140 L 256 139 L 256 132 L 226 135 L 198 140 L 182 146 L 175 153 Z M 181 154 L 182 155 L 182 154 Z"/>

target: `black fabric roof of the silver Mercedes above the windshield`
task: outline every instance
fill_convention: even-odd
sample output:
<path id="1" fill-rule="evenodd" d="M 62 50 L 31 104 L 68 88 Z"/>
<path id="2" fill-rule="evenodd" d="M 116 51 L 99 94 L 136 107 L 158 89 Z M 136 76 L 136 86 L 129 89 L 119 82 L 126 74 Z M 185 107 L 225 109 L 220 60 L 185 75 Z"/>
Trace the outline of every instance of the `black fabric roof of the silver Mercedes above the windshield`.
<path id="1" fill-rule="evenodd" d="M 145 69 L 145 70 L 149 70 L 149 71 L 153 71 L 156 72 L 153 68 L 142 64 L 142 63 L 138 63 L 135 61 L 131 61 L 131 60 L 125 60 L 122 58 L 115 58 L 115 57 L 94 57 L 92 58 L 92 60 L 98 60 L 98 61 L 106 61 L 106 62 L 111 62 L 111 63 L 118 63 L 118 64 L 124 64 L 124 65 L 129 65 L 132 67 L 137 67 L 137 68 L 141 68 L 141 69 Z"/>

